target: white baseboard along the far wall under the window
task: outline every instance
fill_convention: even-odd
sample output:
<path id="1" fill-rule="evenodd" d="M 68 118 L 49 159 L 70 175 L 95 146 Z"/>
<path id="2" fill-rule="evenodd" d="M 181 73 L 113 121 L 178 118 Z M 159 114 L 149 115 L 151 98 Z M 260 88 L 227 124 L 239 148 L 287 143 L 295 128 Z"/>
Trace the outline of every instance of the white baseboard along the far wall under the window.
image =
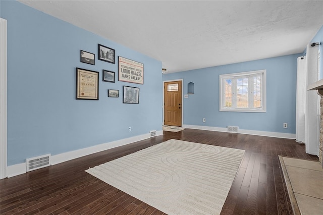
<path id="1" fill-rule="evenodd" d="M 221 128 L 221 127 L 195 126 L 195 125 L 183 125 L 182 127 L 183 128 L 191 128 L 191 129 L 199 129 L 199 130 L 207 130 L 207 131 L 228 132 L 227 128 Z M 281 133 L 281 132 L 270 132 L 270 131 L 255 131 L 255 130 L 239 129 L 238 134 L 250 134 L 250 135 L 258 135 L 258 136 L 266 136 L 266 137 L 278 137 L 278 138 L 286 138 L 286 139 L 296 139 L 296 134 Z"/>

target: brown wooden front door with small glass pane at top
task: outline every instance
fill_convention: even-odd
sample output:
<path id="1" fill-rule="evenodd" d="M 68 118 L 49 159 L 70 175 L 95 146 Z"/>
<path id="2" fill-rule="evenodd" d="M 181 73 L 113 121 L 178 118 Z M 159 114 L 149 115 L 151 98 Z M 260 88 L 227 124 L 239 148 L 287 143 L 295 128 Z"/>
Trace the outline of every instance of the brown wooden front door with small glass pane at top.
<path id="1" fill-rule="evenodd" d="M 164 125 L 182 126 L 182 81 L 164 83 Z"/>

